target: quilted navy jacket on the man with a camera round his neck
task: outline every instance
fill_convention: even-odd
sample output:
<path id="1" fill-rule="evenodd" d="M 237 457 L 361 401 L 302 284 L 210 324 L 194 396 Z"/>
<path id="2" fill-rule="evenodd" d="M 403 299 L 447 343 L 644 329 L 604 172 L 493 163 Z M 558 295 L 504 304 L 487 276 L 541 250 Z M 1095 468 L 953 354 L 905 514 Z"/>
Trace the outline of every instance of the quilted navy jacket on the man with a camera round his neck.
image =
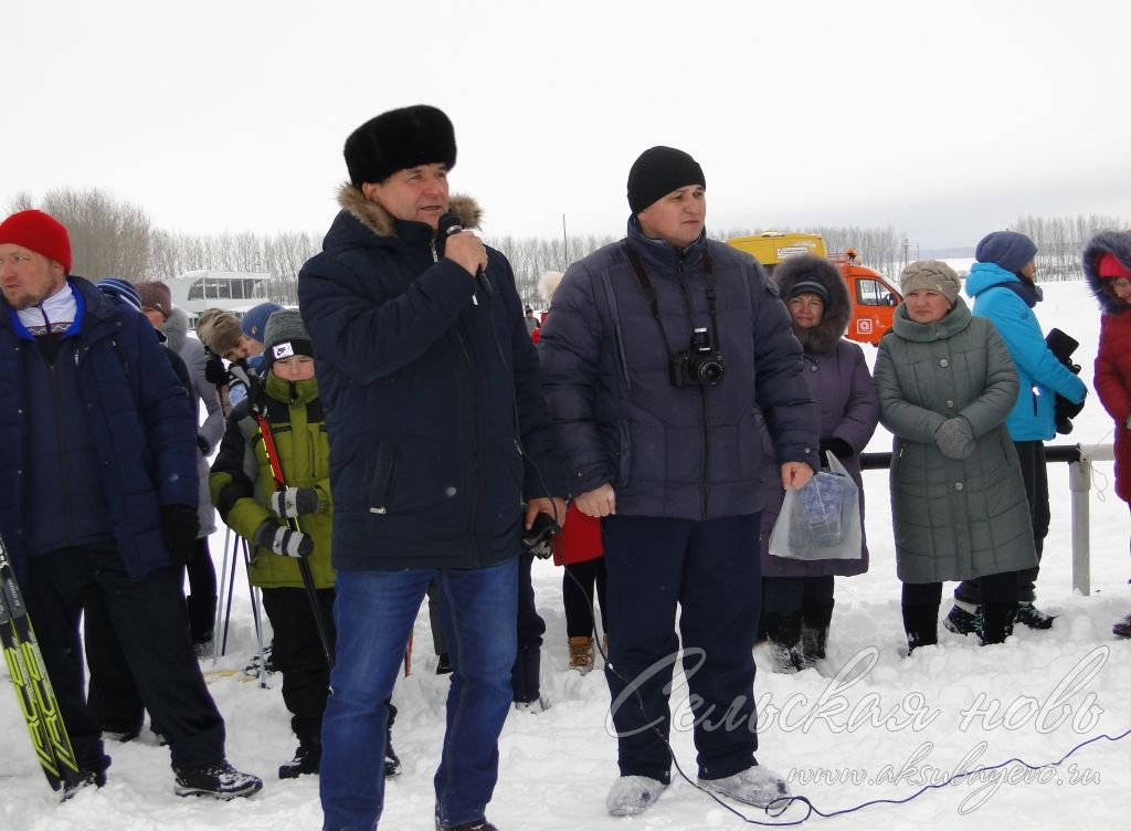
<path id="1" fill-rule="evenodd" d="M 542 326 L 542 377 L 570 490 L 610 482 L 616 513 L 711 520 L 762 507 L 767 469 L 754 414 L 766 413 L 778 464 L 818 466 L 819 413 L 801 375 L 789 315 L 748 254 L 700 239 L 685 249 L 629 242 L 656 289 L 663 332 L 621 243 L 570 266 Z M 716 275 L 718 331 L 708 315 L 703 252 Z M 694 309 L 689 317 L 688 305 Z M 725 377 L 675 387 L 668 355 L 693 326 L 711 329 Z"/>

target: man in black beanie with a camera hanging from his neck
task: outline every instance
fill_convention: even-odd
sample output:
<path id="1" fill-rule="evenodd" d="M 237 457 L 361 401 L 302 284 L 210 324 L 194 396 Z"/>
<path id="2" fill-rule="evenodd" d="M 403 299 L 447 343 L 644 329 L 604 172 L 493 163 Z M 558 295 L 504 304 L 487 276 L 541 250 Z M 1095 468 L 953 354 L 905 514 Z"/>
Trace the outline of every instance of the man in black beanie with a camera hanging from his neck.
<path id="1" fill-rule="evenodd" d="M 809 481 L 818 412 L 776 289 L 703 232 L 706 185 L 683 151 L 645 151 L 628 237 L 569 268 L 542 326 L 567 476 L 578 508 L 602 517 L 614 816 L 645 811 L 671 779 L 657 731 L 671 723 L 677 606 L 700 785 L 753 805 L 787 793 L 754 759 L 761 482 Z M 780 469 L 765 470 L 758 409 Z"/>

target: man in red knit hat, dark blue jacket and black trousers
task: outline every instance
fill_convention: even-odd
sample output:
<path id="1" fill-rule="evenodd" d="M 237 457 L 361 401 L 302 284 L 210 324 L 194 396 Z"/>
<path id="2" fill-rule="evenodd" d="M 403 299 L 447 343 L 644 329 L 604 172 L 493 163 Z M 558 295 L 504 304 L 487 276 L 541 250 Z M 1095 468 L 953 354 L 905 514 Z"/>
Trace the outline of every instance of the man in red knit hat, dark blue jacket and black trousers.
<path id="1" fill-rule="evenodd" d="M 249 796 L 192 654 L 181 564 L 195 550 L 195 422 L 153 326 L 68 276 L 67 229 L 40 211 L 0 223 L 0 534 L 25 586 L 83 785 L 110 759 L 83 693 L 78 626 L 105 606 L 179 795 Z"/>

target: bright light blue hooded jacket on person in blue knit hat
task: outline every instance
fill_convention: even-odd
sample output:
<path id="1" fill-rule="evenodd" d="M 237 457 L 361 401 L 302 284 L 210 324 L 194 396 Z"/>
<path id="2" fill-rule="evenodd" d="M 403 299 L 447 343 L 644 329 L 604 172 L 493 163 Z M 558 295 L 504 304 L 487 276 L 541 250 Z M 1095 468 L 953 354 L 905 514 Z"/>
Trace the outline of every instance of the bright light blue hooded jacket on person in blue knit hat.
<path id="1" fill-rule="evenodd" d="M 1021 279 L 994 263 L 975 263 L 966 293 L 974 298 L 974 315 L 996 327 L 1017 368 L 1020 389 L 1005 419 L 1010 438 L 1047 442 L 1056 435 L 1055 393 L 1076 403 L 1087 387 L 1050 351 L 1037 316 L 1009 283 L 1020 285 Z"/>

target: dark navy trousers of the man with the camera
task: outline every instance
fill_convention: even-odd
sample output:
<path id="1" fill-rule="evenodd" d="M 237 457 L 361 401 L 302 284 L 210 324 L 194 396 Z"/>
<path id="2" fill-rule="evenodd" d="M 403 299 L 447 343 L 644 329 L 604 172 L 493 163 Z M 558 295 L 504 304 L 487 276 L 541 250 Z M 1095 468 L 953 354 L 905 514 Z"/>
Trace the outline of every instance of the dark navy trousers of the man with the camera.
<path id="1" fill-rule="evenodd" d="M 602 520 L 612 635 L 605 679 L 621 776 L 670 780 L 665 686 L 680 648 L 677 607 L 699 776 L 720 779 L 756 764 L 751 646 L 761 603 L 758 532 L 759 514 L 702 522 Z"/>

